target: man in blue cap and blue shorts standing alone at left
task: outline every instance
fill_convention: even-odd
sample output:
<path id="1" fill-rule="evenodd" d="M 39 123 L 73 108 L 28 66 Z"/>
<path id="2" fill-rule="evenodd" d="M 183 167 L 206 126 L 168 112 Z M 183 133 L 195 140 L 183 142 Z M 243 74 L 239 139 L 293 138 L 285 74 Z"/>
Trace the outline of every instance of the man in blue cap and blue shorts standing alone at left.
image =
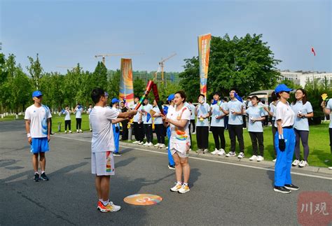
<path id="1" fill-rule="evenodd" d="M 41 104 L 43 94 L 37 90 L 32 93 L 34 104 L 25 110 L 25 129 L 27 131 L 28 142 L 31 146 L 32 165 L 34 167 L 34 181 L 48 181 L 45 174 L 46 157 L 45 153 L 50 150 L 50 109 Z M 38 162 L 39 157 L 39 162 Z M 38 165 L 41 165 L 41 176 L 39 177 Z"/>

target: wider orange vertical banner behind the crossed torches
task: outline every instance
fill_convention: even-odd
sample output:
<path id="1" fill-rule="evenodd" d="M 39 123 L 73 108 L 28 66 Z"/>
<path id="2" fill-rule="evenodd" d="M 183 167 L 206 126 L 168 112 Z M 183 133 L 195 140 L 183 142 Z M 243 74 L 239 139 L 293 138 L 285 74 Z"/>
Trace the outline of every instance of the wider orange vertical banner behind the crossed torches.
<path id="1" fill-rule="evenodd" d="M 125 105 L 128 108 L 132 108 L 134 106 L 132 59 L 121 58 L 119 99 L 120 101 L 125 100 Z"/>

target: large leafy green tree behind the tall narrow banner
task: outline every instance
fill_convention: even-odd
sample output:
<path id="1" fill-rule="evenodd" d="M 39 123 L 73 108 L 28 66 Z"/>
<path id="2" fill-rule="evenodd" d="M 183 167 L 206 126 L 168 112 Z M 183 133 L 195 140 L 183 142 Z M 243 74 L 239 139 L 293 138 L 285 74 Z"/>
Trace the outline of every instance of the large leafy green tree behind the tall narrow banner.
<path id="1" fill-rule="evenodd" d="M 262 35 L 247 34 L 242 38 L 228 34 L 223 38 L 212 36 L 210 45 L 209 72 L 207 78 L 207 95 L 212 97 L 215 91 L 228 95 L 231 88 L 239 94 L 249 94 L 256 90 L 266 90 L 276 83 L 279 72 L 275 66 L 280 60 L 274 59 L 273 52 Z M 181 86 L 197 97 L 199 94 L 198 57 L 185 59 L 184 72 L 180 73 Z M 198 91 L 194 91 L 195 90 Z"/>

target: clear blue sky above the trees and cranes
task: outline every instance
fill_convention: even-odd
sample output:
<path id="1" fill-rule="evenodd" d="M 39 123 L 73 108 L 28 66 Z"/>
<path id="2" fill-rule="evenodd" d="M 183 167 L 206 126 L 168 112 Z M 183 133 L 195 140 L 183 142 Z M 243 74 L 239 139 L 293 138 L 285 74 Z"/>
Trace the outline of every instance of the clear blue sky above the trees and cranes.
<path id="1" fill-rule="evenodd" d="M 165 71 L 182 71 L 183 59 L 198 55 L 197 36 L 211 32 L 263 34 L 279 69 L 332 71 L 330 0 L 0 2 L 2 51 L 24 68 L 37 52 L 45 71 L 62 73 L 57 66 L 78 62 L 93 71 L 99 53 L 144 52 L 124 57 L 135 71 L 153 71 L 177 52 Z M 120 68 L 120 57 L 107 57 L 106 67 Z"/>

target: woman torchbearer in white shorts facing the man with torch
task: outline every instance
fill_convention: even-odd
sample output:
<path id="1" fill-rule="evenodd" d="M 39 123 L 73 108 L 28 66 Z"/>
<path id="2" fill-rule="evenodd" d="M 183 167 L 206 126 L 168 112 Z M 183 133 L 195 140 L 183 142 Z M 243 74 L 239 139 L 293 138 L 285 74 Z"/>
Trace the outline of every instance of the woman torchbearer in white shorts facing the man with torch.
<path id="1" fill-rule="evenodd" d="M 191 112 L 184 106 L 186 94 L 183 91 L 176 92 L 174 95 L 175 108 L 169 108 L 167 116 L 162 116 L 164 125 L 170 125 L 170 152 L 175 162 L 175 175 L 177 178 L 176 185 L 171 188 L 172 192 L 186 193 L 190 191 L 188 180 L 191 167 L 188 163 L 189 149 L 191 139 L 189 136 L 189 122 Z M 182 183 L 182 174 L 184 183 Z"/>

